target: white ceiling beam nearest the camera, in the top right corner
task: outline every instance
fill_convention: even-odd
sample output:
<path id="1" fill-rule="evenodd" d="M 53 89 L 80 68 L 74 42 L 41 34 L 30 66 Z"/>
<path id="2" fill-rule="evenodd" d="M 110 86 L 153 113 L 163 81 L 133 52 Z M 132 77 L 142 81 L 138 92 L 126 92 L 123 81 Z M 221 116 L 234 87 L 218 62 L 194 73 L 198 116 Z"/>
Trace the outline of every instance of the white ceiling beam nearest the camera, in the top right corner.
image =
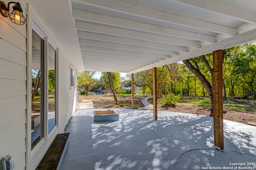
<path id="1" fill-rule="evenodd" d="M 212 0 L 167 0 L 170 2 L 197 7 L 205 11 L 212 11 L 230 16 L 233 19 L 247 22 L 256 23 L 256 14 L 249 11 L 242 10 L 241 8 L 235 8 L 223 3 L 214 2 Z M 238 6 L 239 7 L 239 6 Z"/>

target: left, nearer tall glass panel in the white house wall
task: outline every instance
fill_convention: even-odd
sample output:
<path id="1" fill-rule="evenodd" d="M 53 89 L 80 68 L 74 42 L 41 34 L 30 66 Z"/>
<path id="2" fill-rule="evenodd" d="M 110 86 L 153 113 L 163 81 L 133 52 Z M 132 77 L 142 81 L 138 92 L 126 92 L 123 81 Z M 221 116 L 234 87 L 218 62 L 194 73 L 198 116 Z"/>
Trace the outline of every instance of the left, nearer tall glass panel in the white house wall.
<path id="1" fill-rule="evenodd" d="M 44 40 L 32 32 L 31 148 L 44 137 Z"/>

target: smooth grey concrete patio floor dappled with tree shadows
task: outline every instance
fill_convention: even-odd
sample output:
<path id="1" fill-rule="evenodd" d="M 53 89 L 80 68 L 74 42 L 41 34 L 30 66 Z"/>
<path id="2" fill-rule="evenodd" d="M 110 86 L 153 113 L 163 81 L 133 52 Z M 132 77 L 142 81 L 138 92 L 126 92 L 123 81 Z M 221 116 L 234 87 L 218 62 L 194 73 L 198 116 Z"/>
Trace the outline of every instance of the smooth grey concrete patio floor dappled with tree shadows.
<path id="1" fill-rule="evenodd" d="M 256 163 L 254 126 L 224 121 L 225 151 L 219 152 L 213 148 L 212 117 L 159 111 L 154 121 L 153 111 L 116 109 L 119 121 L 94 123 L 93 110 L 102 109 L 73 115 L 61 169 L 223 169 Z"/>

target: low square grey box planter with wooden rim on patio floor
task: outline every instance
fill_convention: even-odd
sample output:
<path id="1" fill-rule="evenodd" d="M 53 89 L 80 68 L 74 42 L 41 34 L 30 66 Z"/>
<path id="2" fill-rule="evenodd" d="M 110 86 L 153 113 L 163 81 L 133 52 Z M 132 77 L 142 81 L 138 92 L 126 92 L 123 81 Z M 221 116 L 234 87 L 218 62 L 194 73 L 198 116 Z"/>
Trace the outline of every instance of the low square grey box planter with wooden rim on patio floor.
<path id="1" fill-rule="evenodd" d="M 119 121 L 119 114 L 116 111 L 94 111 L 94 122 Z"/>

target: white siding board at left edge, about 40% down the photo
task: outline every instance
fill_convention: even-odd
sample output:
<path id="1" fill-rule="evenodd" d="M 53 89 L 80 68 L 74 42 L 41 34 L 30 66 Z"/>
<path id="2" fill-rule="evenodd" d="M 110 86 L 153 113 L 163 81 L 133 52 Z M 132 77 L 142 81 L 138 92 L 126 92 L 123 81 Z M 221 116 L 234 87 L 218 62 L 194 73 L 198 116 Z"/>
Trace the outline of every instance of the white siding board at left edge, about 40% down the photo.
<path id="1" fill-rule="evenodd" d="M 27 80 L 27 67 L 0 58 L 0 79 Z"/>

